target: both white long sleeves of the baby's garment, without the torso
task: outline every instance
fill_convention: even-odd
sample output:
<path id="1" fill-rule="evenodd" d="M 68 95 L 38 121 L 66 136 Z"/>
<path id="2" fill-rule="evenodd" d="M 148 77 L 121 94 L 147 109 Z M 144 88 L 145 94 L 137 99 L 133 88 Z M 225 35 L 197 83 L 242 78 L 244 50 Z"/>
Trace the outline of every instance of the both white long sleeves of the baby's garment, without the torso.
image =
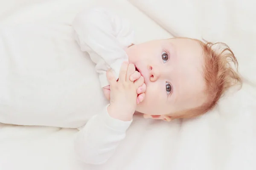
<path id="1" fill-rule="evenodd" d="M 81 50 L 87 51 L 96 63 L 101 86 L 109 85 L 108 69 L 112 69 L 118 79 L 122 62 L 128 61 L 124 49 L 133 43 L 134 38 L 129 23 L 104 8 L 94 8 L 77 14 L 73 28 Z M 125 138 L 131 122 L 113 119 L 106 106 L 77 133 L 75 150 L 79 159 L 89 164 L 106 162 Z"/>

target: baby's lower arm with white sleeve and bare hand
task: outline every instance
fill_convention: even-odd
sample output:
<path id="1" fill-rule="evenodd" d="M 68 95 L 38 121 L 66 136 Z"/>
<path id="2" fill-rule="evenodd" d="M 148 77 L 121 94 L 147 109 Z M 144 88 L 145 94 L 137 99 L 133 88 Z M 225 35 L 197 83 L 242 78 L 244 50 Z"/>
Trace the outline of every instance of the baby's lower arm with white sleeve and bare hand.
<path id="1" fill-rule="evenodd" d="M 118 82 L 113 74 L 108 73 L 108 80 L 111 83 L 110 105 L 90 119 L 77 133 L 76 154 L 86 163 L 105 163 L 125 138 L 126 130 L 131 125 L 137 105 L 136 89 L 144 81 L 134 82 L 127 78 L 135 71 L 133 64 L 124 63 L 121 69 Z"/>

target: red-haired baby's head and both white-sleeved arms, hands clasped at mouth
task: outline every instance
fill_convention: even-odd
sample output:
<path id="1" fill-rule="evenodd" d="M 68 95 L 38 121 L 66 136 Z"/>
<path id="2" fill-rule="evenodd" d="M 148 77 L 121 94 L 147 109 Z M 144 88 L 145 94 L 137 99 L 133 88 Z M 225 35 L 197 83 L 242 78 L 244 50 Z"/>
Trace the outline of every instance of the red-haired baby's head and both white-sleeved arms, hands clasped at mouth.
<path id="1" fill-rule="evenodd" d="M 76 136 L 77 156 L 86 163 L 102 164 L 113 155 L 135 111 L 166 121 L 192 118 L 241 82 L 229 62 L 237 66 L 236 57 L 224 43 L 171 38 L 134 44 L 128 22 L 104 8 L 79 13 L 73 28 L 110 99 Z"/>

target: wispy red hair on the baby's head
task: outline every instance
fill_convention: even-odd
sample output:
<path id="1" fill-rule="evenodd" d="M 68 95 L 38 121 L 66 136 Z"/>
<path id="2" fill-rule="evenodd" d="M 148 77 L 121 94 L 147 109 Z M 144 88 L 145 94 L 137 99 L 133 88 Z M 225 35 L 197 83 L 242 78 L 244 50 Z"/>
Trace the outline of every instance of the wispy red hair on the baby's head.
<path id="1" fill-rule="evenodd" d="M 192 118 L 210 111 L 217 104 L 222 94 L 233 85 L 242 84 L 238 74 L 238 62 L 229 46 L 223 42 L 211 43 L 196 40 L 203 48 L 204 72 L 206 82 L 204 93 L 206 102 L 197 108 L 175 113 L 171 119 Z M 173 115 L 173 114 L 172 114 Z"/>

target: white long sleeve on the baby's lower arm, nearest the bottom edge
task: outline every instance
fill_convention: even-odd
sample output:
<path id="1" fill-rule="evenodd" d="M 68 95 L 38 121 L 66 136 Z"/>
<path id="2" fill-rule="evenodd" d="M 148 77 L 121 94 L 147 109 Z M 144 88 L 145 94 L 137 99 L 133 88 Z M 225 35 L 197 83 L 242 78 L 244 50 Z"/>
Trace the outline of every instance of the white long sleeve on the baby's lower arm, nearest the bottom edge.
<path id="1" fill-rule="evenodd" d="M 107 108 L 104 108 L 102 113 L 93 116 L 76 134 L 76 156 L 87 164 L 105 163 L 125 138 L 131 122 L 113 119 Z"/>

